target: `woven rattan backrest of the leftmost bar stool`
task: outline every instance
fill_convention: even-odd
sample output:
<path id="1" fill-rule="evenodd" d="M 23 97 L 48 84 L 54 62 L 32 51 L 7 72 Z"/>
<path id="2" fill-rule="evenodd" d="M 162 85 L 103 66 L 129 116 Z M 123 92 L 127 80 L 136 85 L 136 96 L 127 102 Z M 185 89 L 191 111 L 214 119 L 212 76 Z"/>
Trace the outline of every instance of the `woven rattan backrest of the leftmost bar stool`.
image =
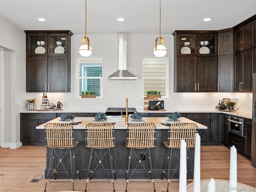
<path id="1" fill-rule="evenodd" d="M 74 141 L 73 126 L 64 123 L 48 123 L 45 128 L 46 147 L 50 148 L 73 148 L 78 145 Z"/>

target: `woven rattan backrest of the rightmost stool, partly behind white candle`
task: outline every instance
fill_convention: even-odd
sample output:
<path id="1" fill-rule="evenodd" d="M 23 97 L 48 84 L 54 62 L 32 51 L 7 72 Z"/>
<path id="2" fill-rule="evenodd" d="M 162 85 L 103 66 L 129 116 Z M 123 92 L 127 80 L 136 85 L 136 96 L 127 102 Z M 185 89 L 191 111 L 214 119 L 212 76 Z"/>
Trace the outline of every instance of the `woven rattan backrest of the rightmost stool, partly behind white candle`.
<path id="1" fill-rule="evenodd" d="M 186 141 L 187 148 L 194 148 L 197 125 L 195 123 L 173 123 L 169 126 L 169 138 L 166 147 L 180 148 L 180 141 Z"/>

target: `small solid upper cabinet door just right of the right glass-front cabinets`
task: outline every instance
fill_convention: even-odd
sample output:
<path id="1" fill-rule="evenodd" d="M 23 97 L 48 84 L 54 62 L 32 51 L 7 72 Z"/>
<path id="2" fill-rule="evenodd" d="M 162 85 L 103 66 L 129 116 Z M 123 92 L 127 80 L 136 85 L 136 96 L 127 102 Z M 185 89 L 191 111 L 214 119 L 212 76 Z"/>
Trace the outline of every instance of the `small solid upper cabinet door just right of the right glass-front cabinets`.
<path id="1" fill-rule="evenodd" d="M 218 31 L 218 56 L 234 53 L 234 30 Z"/>

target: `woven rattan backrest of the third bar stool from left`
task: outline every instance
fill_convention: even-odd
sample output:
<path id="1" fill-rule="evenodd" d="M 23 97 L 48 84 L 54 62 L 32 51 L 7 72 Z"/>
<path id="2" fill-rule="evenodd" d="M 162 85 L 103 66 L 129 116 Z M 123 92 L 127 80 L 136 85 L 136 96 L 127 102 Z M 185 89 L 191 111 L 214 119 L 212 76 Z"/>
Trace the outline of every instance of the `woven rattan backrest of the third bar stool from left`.
<path id="1" fill-rule="evenodd" d="M 156 146 L 154 123 L 131 123 L 127 128 L 126 147 L 153 148 Z"/>

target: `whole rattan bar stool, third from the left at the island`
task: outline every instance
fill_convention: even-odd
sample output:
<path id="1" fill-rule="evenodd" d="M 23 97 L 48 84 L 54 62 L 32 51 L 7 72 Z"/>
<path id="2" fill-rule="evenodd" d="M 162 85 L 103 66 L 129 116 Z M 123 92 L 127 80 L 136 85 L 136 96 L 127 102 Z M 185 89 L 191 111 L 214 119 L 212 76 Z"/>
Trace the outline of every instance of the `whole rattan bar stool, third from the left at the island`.
<path id="1" fill-rule="evenodd" d="M 126 170 L 126 189 L 128 182 L 130 182 L 130 178 L 134 173 L 146 172 L 154 185 L 154 178 L 152 174 L 152 162 L 150 156 L 150 148 L 154 148 L 156 146 L 156 126 L 154 123 L 132 123 L 128 125 L 127 128 L 127 138 L 126 138 L 126 147 L 130 148 L 127 170 Z M 145 149 L 144 155 L 141 154 L 138 156 L 135 152 L 135 149 Z M 131 169 L 131 160 L 132 154 L 135 155 L 136 166 Z M 142 160 L 146 158 L 146 154 L 148 154 L 148 164 L 150 168 L 146 169 L 144 164 L 142 164 Z M 141 168 L 143 171 L 138 171 L 138 168 Z M 136 171 L 137 170 L 137 171 Z M 131 173 L 130 173 L 131 172 Z"/>

